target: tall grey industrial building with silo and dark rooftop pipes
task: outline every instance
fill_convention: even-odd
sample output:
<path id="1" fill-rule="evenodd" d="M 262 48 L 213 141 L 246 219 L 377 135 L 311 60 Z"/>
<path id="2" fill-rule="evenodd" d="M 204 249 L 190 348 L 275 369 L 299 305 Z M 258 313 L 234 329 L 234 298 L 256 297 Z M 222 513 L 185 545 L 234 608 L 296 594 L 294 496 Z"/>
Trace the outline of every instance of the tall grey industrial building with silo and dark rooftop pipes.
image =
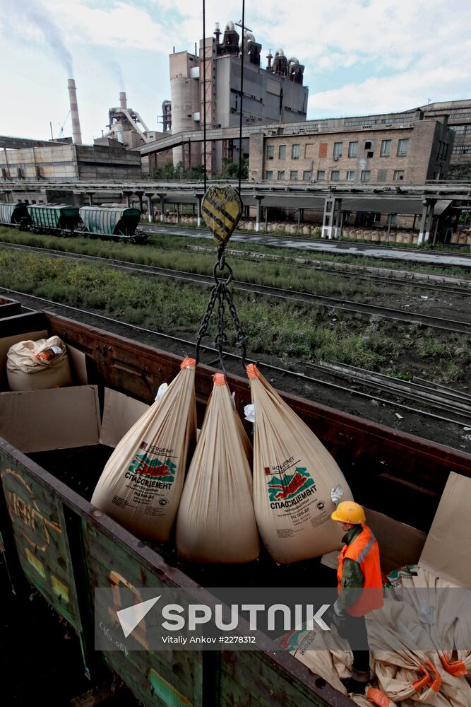
<path id="1" fill-rule="evenodd" d="M 221 40 L 222 35 L 222 40 Z M 204 54 L 205 52 L 205 54 Z M 304 66 L 296 57 L 287 59 L 283 49 L 268 52 L 268 66 L 260 65 L 261 45 L 251 32 L 244 35 L 244 95 L 242 124 L 299 122 L 306 119 L 309 90 L 303 86 Z M 273 59 L 273 64 L 272 64 Z M 242 40 L 233 22 L 224 33 L 217 23 L 213 37 L 200 40 L 199 54 L 174 52 L 169 56 L 172 94 L 172 134 L 203 128 L 239 125 L 241 112 Z M 243 156 L 249 156 L 248 141 L 243 141 Z M 208 174 L 219 173 L 222 158 L 239 160 L 235 139 L 208 141 Z M 186 168 L 202 164 L 201 144 L 183 143 L 173 151 L 174 165 Z"/>

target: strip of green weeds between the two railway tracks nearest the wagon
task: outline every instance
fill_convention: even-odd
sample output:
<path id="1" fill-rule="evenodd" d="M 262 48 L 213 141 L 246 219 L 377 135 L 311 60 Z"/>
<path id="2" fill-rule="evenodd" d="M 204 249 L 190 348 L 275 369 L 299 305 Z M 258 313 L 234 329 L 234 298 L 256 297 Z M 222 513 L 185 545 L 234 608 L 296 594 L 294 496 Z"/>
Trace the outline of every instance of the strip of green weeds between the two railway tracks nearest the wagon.
<path id="1" fill-rule="evenodd" d="M 194 257 L 194 256 L 193 256 Z M 101 265 L 0 251 L 0 286 L 94 310 L 135 325 L 194 337 L 208 288 L 125 274 Z M 235 293 L 249 353 L 348 363 L 400 377 L 423 367 L 437 381 L 463 381 L 470 370 L 469 337 L 391 325 L 375 317 Z M 212 322 L 215 327 L 215 320 Z M 395 329 L 395 330 L 394 330 Z M 210 331 L 210 339 L 215 329 Z M 234 341 L 232 341 L 234 343 Z M 433 364 L 433 372 L 430 364 Z"/>

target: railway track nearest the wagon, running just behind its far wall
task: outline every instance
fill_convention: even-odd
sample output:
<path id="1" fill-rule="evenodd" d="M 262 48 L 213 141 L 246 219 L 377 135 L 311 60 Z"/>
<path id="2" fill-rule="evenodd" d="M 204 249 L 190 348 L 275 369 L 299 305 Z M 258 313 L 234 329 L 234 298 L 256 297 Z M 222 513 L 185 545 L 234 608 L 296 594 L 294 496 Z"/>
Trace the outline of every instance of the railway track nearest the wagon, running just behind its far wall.
<path id="1" fill-rule="evenodd" d="M 87 322 L 91 325 L 98 325 L 100 322 L 100 327 L 112 327 L 114 332 L 116 332 L 116 327 L 119 327 L 123 334 L 127 337 L 130 336 L 130 332 L 134 336 L 136 334 L 140 335 L 144 341 L 147 343 L 149 339 L 152 339 L 152 343 L 161 349 L 167 351 L 174 351 L 176 354 L 187 354 L 189 351 L 193 350 L 196 346 L 196 341 L 194 339 L 184 339 L 181 337 L 174 337 L 171 334 L 165 334 L 164 332 L 156 331 L 155 329 L 146 329 L 145 327 L 138 327 L 136 325 L 131 325 L 126 322 L 121 322 L 115 320 L 112 317 L 107 317 L 105 315 L 100 315 L 95 312 L 90 312 L 89 310 L 83 310 L 81 308 L 73 307 L 71 305 L 64 305 L 61 303 L 54 302 L 54 300 L 48 300 L 46 298 L 37 297 L 33 295 L 25 295 L 24 293 L 11 290 L 8 288 L 0 288 L 0 291 L 8 292 L 15 296 L 25 307 L 30 307 L 35 309 L 40 305 L 40 308 L 54 308 L 54 313 L 60 314 L 62 316 L 73 317 L 79 321 Z M 215 366 L 219 361 L 218 351 L 213 346 L 207 346 L 201 344 L 202 353 L 202 363 L 207 366 Z M 225 351 L 225 366 L 227 370 L 231 373 L 237 373 L 240 375 L 241 370 L 241 359 L 237 354 L 233 354 L 230 351 Z M 204 357 L 204 360 L 203 360 Z M 265 361 L 255 361 L 254 359 L 247 358 L 248 363 L 261 363 L 263 369 L 270 375 L 270 381 L 274 382 L 277 387 L 284 390 L 291 390 L 292 382 L 297 380 L 297 382 L 302 382 L 302 384 L 312 384 L 316 387 L 321 387 L 328 389 L 335 393 L 335 396 L 341 396 L 344 402 L 347 402 L 347 407 L 350 407 L 350 402 L 352 397 L 357 397 L 357 399 L 366 399 L 368 402 L 374 400 L 376 404 L 381 406 L 388 406 L 394 411 L 400 410 L 403 414 L 413 414 L 419 416 L 422 419 L 433 419 L 434 421 L 439 421 L 440 423 L 451 423 L 453 426 L 458 426 L 455 431 L 459 435 L 462 434 L 463 426 L 469 424 L 471 426 L 471 413 L 468 412 L 468 407 L 471 409 L 471 396 L 467 393 L 459 391 L 450 391 L 449 389 L 434 383 L 428 383 L 423 381 L 422 384 L 428 387 L 429 390 L 439 389 L 439 394 L 436 397 L 440 397 L 439 401 L 426 400 L 425 397 L 418 398 L 415 395 L 415 390 L 412 390 L 412 386 L 407 386 L 407 382 L 398 380 L 395 378 L 390 378 L 388 376 L 380 376 L 377 373 L 371 373 L 366 370 L 356 369 L 354 373 L 348 375 L 348 368 L 343 366 L 342 375 L 336 375 L 339 372 L 333 370 L 335 364 L 322 364 L 318 366 L 317 364 L 306 364 L 306 366 L 297 366 L 295 370 L 293 368 L 283 368 L 282 366 L 274 366 L 271 363 Z M 328 370 L 330 368 L 330 370 Z M 309 375 L 312 370 L 315 370 L 318 375 Z M 359 375 L 362 372 L 362 375 Z M 334 382 L 334 380 L 329 380 L 329 378 L 335 379 L 335 377 L 343 378 L 342 382 Z M 398 390 L 397 387 L 393 385 L 371 385 L 371 378 L 384 378 L 388 379 L 390 383 L 398 383 L 401 385 L 402 390 Z M 345 380 L 347 380 L 347 385 L 345 385 Z M 289 381 L 289 387 L 286 387 L 286 382 Z M 343 383 L 343 384 L 342 384 Z M 359 390 L 359 385 L 364 387 L 364 390 Z M 376 388 L 376 392 L 371 390 L 371 388 Z M 377 395 L 377 391 L 381 392 L 381 395 Z M 464 405 L 455 404 L 457 402 L 457 397 L 463 397 L 465 399 Z M 468 401 L 468 398 L 470 399 Z M 419 407 L 415 405 L 417 400 L 422 401 Z M 454 405 L 455 404 L 455 405 Z M 453 407 L 454 405 L 454 407 Z M 453 409 L 451 409 L 453 407 Z M 440 411 L 445 411 L 446 414 L 439 414 Z M 355 414 L 362 415 L 361 412 L 355 410 Z M 368 414 L 364 414 L 366 418 L 369 418 Z M 402 419 L 402 416 L 396 413 L 398 420 Z M 372 418 L 369 418 L 372 419 Z M 464 439 L 463 436 L 459 437 L 460 440 Z M 471 441 L 471 440 L 470 440 Z M 458 446 L 458 442 L 457 442 Z M 459 445 L 460 448 L 466 448 L 468 445 Z"/>

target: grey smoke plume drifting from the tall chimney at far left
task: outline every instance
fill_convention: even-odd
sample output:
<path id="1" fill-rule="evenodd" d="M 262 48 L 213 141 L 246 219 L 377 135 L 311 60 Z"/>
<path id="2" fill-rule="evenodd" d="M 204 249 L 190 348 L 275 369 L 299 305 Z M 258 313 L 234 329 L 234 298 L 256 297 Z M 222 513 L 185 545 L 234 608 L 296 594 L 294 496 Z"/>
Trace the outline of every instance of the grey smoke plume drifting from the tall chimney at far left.
<path id="1" fill-rule="evenodd" d="M 39 0 L 0 0 L 0 7 L 4 8 L 2 13 L 4 19 L 8 14 L 10 18 L 15 15 L 21 25 L 32 25 L 37 28 L 49 45 L 52 54 L 64 66 L 67 77 L 73 78 L 72 54 L 64 44 L 61 30 L 54 22 L 52 14 Z"/>

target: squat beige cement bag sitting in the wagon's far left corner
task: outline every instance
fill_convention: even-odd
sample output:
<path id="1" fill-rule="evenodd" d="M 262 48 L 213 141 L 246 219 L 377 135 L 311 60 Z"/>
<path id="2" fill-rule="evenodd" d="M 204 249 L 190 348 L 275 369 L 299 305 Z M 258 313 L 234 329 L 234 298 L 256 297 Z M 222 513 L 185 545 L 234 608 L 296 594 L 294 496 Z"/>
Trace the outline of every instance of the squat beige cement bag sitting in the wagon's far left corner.
<path id="1" fill-rule="evenodd" d="M 6 354 L 10 390 L 43 390 L 72 385 L 67 349 L 59 337 L 20 341 Z"/>

